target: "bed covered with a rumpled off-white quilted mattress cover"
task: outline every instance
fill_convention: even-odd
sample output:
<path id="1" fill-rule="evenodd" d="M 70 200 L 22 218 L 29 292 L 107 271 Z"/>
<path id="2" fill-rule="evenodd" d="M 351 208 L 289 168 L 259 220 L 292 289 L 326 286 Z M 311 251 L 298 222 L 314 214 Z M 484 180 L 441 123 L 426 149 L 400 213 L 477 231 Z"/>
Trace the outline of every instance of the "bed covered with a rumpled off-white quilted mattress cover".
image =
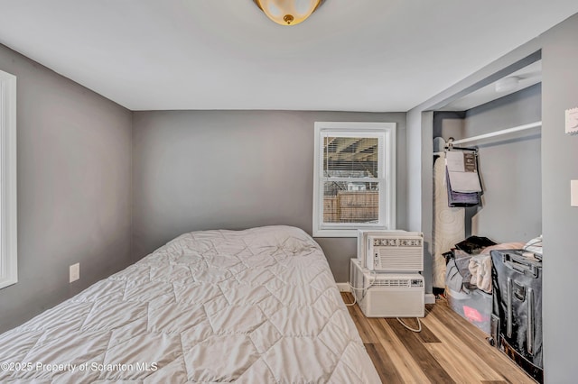
<path id="1" fill-rule="evenodd" d="M 185 233 L 0 335 L 0 381 L 378 383 L 302 230 Z"/>

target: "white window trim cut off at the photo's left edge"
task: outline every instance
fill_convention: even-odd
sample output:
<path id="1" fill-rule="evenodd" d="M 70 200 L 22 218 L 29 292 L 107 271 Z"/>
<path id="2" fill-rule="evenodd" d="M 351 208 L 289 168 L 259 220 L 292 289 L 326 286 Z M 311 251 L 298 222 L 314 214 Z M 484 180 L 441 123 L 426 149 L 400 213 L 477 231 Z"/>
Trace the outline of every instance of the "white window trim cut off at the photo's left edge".
<path id="1" fill-rule="evenodd" d="M 0 288 L 18 282 L 16 77 L 0 70 Z"/>

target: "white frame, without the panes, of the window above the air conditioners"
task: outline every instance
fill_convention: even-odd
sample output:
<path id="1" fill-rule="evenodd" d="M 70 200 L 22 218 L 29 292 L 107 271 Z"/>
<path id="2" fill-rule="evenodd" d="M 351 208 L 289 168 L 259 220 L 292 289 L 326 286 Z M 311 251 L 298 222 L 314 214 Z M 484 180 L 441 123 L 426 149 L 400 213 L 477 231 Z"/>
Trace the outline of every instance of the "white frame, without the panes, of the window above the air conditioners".
<path id="1" fill-rule="evenodd" d="M 323 223 L 323 136 L 378 137 L 378 223 Z M 392 230 L 396 227 L 396 123 L 315 122 L 313 160 L 313 236 L 357 237 L 359 229 Z M 371 180 L 368 180 L 371 181 Z"/>

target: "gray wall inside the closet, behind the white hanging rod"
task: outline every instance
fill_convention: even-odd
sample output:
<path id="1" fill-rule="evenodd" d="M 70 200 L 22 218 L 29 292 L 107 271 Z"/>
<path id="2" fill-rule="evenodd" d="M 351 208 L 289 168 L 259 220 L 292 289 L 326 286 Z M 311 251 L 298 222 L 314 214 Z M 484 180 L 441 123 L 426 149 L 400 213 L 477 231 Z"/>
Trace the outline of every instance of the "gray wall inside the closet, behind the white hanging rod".
<path id="1" fill-rule="evenodd" d="M 537 84 L 465 113 L 436 113 L 433 136 L 459 140 L 534 123 L 542 119 L 541 105 L 541 85 Z M 484 188 L 481 206 L 466 208 L 466 236 L 487 236 L 495 242 L 527 242 L 541 234 L 540 130 L 463 146 L 479 149 Z"/>

